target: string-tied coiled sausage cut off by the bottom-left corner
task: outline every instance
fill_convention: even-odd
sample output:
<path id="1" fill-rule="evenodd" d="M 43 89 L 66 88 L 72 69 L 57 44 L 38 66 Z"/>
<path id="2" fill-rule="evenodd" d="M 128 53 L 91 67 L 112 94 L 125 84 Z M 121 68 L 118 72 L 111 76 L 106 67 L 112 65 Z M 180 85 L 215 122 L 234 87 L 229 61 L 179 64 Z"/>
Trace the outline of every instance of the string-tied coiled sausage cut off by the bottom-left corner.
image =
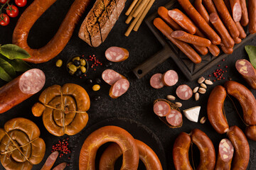
<path id="1" fill-rule="evenodd" d="M 5 169 L 32 169 L 46 152 L 45 142 L 39 138 L 40 130 L 26 118 L 14 118 L 0 129 L 0 158 Z"/>

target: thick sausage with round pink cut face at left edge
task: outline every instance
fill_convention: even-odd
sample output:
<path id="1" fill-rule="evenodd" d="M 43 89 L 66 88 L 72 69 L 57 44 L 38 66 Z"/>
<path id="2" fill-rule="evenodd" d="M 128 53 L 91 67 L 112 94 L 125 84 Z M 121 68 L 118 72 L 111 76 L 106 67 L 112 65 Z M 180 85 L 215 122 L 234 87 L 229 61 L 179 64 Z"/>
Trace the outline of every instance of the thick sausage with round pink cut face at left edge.
<path id="1" fill-rule="evenodd" d="M 0 88 L 0 113 L 4 113 L 41 91 L 46 76 L 40 69 L 30 69 Z"/>

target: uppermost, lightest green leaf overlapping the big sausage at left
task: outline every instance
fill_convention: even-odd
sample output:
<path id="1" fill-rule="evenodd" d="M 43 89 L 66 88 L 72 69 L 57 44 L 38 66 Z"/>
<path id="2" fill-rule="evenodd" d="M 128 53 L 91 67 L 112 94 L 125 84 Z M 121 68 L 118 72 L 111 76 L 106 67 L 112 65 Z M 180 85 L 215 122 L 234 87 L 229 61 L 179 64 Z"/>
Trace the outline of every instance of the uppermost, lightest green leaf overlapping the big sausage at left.
<path id="1" fill-rule="evenodd" d="M 0 52 L 11 60 L 31 57 L 26 50 L 23 50 L 21 47 L 13 44 L 2 45 L 0 47 Z"/>

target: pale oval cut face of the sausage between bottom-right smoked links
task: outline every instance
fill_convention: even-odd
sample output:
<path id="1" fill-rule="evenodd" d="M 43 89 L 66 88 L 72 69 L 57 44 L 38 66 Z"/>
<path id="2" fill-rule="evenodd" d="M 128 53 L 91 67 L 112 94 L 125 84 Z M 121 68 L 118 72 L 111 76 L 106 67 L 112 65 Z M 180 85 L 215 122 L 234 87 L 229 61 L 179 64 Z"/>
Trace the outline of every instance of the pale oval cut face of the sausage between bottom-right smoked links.
<path id="1" fill-rule="evenodd" d="M 234 147 L 230 140 L 220 140 L 219 154 L 223 162 L 229 162 L 233 158 Z"/>

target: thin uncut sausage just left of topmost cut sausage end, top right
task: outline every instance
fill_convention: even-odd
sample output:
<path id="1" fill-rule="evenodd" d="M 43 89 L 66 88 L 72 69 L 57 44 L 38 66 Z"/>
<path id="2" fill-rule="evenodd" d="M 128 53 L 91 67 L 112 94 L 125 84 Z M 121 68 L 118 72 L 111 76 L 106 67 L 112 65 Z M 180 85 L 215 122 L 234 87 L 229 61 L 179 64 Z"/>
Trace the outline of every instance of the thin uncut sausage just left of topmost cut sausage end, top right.
<path id="1" fill-rule="evenodd" d="M 232 38 L 238 38 L 239 36 L 239 30 L 235 26 L 235 22 L 233 21 L 233 18 L 230 16 L 230 13 L 228 11 L 228 8 L 225 6 L 225 3 L 223 0 L 213 0 L 218 14 L 220 15 L 220 18 L 222 19 L 225 27 L 228 29 L 230 35 Z"/>

